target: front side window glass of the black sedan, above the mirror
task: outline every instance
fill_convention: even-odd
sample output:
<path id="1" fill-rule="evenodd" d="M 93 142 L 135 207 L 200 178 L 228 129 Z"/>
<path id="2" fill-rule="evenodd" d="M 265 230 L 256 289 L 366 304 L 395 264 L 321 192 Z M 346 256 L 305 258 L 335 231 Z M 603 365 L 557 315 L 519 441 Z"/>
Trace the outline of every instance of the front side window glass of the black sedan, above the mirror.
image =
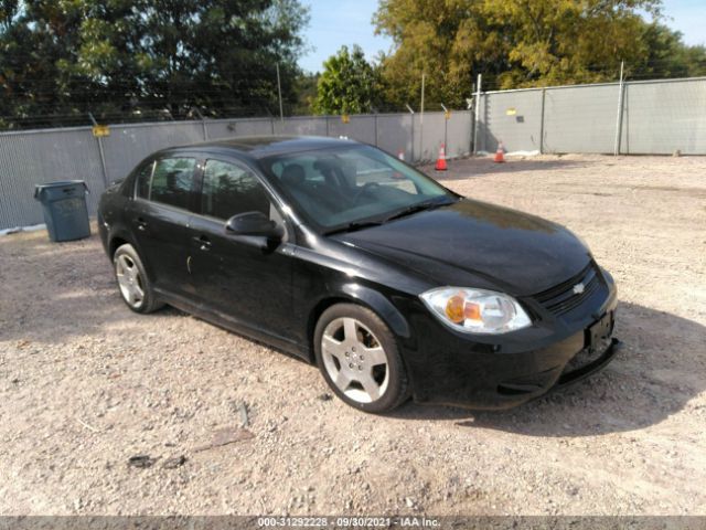
<path id="1" fill-rule="evenodd" d="M 208 160 L 203 173 L 201 211 L 204 215 L 227 220 L 245 212 L 270 214 L 265 187 L 246 168 Z"/>

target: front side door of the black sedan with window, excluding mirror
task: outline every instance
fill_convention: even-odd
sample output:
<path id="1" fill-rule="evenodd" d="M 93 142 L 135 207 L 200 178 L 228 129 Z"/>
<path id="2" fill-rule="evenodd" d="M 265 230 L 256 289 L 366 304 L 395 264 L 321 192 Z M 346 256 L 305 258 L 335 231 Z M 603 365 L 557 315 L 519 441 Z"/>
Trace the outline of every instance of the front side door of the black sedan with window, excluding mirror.
<path id="1" fill-rule="evenodd" d="M 247 166 L 206 160 L 197 215 L 190 226 L 191 282 L 201 304 L 238 325 L 290 339 L 291 246 L 264 250 L 236 241 L 225 222 L 259 211 L 285 224 L 270 192 Z"/>

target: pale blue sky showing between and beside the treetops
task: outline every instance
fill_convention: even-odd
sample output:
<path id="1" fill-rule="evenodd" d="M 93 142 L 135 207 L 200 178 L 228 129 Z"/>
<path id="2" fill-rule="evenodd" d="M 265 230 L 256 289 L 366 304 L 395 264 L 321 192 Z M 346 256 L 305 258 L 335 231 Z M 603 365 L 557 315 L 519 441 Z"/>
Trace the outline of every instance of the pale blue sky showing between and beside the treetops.
<path id="1" fill-rule="evenodd" d="M 392 40 L 374 34 L 371 22 L 377 0 L 303 0 L 311 8 L 307 40 L 312 49 L 299 61 L 308 72 L 321 72 L 322 63 L 343 44 L 360 44 L 368 60 Z M 706 44 L 706 0 L 663 0 L 666 23 L 684 33 L 687 44 Z"/>

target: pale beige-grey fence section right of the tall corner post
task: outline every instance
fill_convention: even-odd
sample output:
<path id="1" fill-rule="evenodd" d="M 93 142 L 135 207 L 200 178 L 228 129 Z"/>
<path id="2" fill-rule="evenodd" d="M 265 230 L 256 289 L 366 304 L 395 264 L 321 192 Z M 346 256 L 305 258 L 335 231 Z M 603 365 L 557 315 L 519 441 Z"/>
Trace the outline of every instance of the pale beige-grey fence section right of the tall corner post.
<path id="1" fill-rule="evenodd" d="M 475 152 L 706 155 L 706 77 L 481 93 Z"/>

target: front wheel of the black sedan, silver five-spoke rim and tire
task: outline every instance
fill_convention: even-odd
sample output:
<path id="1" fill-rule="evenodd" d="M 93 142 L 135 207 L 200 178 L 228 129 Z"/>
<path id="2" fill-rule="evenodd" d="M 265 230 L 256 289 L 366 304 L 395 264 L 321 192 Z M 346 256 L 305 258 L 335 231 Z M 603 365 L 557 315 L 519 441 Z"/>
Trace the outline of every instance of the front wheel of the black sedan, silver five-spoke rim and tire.
<path id="1" fill-rule="evenodd" d="M 314 329 L 314 354 L 331 390 L 360 411 L 388 412 L 409 398 L 397 341 L 365 307 L 336 304 L 323 311 Z"/>

